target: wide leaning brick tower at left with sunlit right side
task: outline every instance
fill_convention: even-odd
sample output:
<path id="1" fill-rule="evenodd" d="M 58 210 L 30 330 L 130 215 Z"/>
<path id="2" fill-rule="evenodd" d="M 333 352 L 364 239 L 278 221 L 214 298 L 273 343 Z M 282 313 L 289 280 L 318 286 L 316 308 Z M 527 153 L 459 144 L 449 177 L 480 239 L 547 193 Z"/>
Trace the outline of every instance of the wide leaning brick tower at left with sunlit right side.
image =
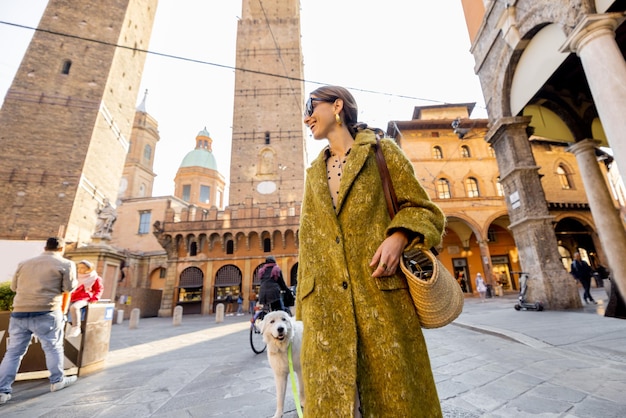
<path id="1" fill-rule="evenodd" d="M 0 240 L 91 240 L 116 201 L 156 7 L 48 2 L 0 110 Z"/>

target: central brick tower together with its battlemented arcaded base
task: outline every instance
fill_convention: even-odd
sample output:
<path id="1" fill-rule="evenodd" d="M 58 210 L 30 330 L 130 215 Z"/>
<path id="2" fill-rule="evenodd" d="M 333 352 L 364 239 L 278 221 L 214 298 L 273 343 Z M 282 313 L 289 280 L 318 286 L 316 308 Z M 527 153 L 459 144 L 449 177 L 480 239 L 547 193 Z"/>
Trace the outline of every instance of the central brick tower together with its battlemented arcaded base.
<path id="1" fill-rule="evenodd" d="M 229 293 L 247 307 L 269 255 L 295 285 L 306 138 L 298 0 L 243 0 L 236 68 L 228 206 L 198 202 L 198 164 L 181 166 L 175 194 L 192 205 L 155 230 L 168 259 L 159 315 L 176 305 L 210 313 Z"/>

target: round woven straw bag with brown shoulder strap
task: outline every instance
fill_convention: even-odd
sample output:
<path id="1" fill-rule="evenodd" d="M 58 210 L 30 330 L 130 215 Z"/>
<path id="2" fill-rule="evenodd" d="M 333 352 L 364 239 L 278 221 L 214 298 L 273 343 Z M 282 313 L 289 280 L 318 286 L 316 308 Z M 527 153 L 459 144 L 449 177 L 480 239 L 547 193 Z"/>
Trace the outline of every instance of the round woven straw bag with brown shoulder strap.
<path id="1" fill-rule="evenodd" d="M 393 219 L 398 211 L 398 202 L 378 139 L 375 151 L 387 209 Z M 400 269 L 406 276 L 409 293 L 423 328 L 440 328 L 458 318 L 465 300 L 461 286 L 437 259 L 433 250 L 405 251 Z"/>

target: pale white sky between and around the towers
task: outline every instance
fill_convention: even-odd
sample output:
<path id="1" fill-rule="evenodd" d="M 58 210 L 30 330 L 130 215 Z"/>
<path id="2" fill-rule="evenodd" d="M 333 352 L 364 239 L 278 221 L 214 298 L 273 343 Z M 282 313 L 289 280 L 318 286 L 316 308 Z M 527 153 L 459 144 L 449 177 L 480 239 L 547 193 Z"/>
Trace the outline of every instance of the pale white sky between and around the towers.
<path id="1" fill-rule="evenodd" d="M 37 27 L 47 0 L 0 0 L 0 21 Z M 206 127 L 218 171 L 230 175 L 235 46 L 241 1 L 160 0 L 137 104 L 159 124 L 153 195 L 174 193 L 174 177 Z M 461 0 L 300 0 L 305 93 L 347 87 L 359 120 L 386 130 L 415 106 L 485 101 Z M 9 89 L 33 31 L 0 23 L 0 97 Z M 326 141 L 306 139 L 310 163 Z"/>

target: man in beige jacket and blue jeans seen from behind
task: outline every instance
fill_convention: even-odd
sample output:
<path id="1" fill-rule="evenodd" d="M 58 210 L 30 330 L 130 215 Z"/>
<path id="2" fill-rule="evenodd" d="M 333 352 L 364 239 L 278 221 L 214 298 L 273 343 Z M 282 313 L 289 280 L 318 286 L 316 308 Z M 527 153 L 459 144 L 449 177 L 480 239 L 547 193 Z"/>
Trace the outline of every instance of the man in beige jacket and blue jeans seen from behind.
<path id="1" fill-rule="evenodd" d="M 76 265 L 63 258 L 64 251 L 62 238 L 48 238 L 43 254 L 20 263 L 11 280 L 15 298 L 7 349 L 0 363 L 0 405 L 11 399 L 15 376 L 33 335 L 46 355 L 50 391 L 64 389 L 76 381 L 76 376 L 65 376 L 63 370 L 62 306 L 64 298 L 69 302 L 69 293 L 78 286 Z"/>

